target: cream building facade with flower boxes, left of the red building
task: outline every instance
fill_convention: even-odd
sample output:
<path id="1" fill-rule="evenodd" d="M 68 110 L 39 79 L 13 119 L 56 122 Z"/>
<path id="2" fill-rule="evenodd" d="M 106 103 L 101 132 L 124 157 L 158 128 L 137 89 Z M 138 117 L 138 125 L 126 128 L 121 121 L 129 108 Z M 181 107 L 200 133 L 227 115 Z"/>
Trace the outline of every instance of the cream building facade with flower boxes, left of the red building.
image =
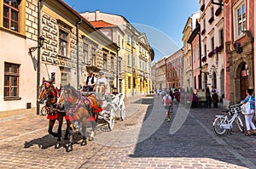
<path id="1" fill-rule="evenodd" d="M 224 95 L 224 12 L 221 5 L 201 0 L 202 87 L 214 86 Z"/>

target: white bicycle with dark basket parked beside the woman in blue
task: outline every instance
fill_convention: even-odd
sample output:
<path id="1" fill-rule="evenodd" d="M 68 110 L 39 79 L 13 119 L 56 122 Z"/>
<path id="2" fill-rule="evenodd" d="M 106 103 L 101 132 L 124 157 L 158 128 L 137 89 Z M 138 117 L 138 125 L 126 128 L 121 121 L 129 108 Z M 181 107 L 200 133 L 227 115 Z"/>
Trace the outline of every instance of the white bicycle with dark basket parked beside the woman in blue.
<path id="1" fill-rule="evenodd" d="M 223 135 L 224 132 L 231 133 L 234 121 L 236 121 L 240 132 L 244 132 L 244 127 L 241 121 L 241 104 L 231 105 L 230 110 L 223 111 L 222 113 L 223 115 L 215 115 L 216 118 L 212 123 L 216 134 Z M 230 119 L 228 115 L 231 116 Z"/>

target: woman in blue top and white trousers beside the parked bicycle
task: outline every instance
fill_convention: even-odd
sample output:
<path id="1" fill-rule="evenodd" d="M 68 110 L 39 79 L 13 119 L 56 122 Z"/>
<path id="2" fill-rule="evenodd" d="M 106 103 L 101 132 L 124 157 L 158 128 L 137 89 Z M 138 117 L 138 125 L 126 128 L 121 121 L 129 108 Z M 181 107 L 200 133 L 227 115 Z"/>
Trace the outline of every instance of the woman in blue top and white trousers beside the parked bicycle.
<path id="1" fill-rule="evenodd" d="M 247 133 L 246 136 L 250 136 L 251 134 L 251 127 L 253 129 L 253 135 L 256 135 L 256 127 L 253 124 L 253 115 L 254 115 L 254 103 L 255 103 L 255 99 L 253 97 L 253 89 L 247 89 L 247 97 L 246 99 L 241 101 L 241 104 L 245 104 L 247 102 L 250 103 L 250 112 L 248 112 L 247 114 L 244 114 L 244 119 L 246 122 L 246 127 L 247 127 Z"/>

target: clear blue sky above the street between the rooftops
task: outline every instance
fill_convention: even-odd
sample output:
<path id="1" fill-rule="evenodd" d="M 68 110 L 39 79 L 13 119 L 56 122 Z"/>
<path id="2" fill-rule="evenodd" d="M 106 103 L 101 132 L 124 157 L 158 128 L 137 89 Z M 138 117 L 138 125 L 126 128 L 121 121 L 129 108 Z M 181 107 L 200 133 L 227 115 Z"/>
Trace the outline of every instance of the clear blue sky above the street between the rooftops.
<path id="1" fill-rule="evenodd" d="M 198 0 L 63 0 L 79 13 L 100 10 L 119 14 L 145 32 L 155 51 L 154 61 L 183 47 L 183 28 L 189 16 L 199 11 Z"/>

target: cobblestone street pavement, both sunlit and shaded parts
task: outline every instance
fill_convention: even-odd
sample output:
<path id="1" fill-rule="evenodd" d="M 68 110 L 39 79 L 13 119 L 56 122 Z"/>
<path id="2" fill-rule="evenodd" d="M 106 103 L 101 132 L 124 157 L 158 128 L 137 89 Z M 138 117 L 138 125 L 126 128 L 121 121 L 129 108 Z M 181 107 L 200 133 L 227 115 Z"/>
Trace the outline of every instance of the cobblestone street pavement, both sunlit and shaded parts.
<path id="1" fill-rule="evenodd" d="M 256 136 L 236 127 L 232 135 L 213 132 L 221 109 L 175 104 L 166 121 L 160 101 L 153 95 L 128 100 L 125 121 L 117 120 L 111 132 L 99 125 L 93 142 L 74 144 L 69 153 L 54 149 L 45 116 L 2 122 L 0 168 L 256 168 Z"/>

